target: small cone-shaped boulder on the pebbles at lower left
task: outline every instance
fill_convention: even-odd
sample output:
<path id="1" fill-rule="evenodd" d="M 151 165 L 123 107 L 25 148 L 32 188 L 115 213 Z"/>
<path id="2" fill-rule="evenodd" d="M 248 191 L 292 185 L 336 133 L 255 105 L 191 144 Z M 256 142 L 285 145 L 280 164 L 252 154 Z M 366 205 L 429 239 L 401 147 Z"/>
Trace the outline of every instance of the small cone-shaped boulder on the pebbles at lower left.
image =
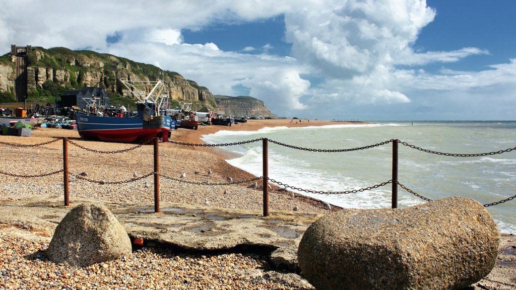
<path id="1" fill-rule="evenodd" d="M 57 225 L 49 249 L 55 263 L 89 266 L 132 253 L 131 239 L 104 206 L 80 204 Z"/>

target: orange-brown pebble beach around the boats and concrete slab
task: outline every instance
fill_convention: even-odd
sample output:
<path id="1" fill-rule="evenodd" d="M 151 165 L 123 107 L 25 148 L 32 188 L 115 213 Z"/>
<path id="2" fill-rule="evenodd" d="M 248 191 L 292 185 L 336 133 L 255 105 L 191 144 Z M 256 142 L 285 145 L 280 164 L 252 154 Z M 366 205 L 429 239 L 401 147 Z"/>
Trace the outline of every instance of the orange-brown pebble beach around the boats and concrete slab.
<path id="1" fill-rule="evenodd" d="M 171 139 L 202 143 L 200 137 L 218 130 L 258 130 L 266 126 L 325 125 L 331 122 L 290 123 L 289 120 L 252 120 L 231 127 L 201 126 L 199 130 L 180 129 Z M 39 144 L 68 137 L 94 151 L 119 151 L 136 144 L 87 141 L 74 130 L 36 128 L 31 137 L 1 136 L 0 141 L 15 144 Z M 38 175 L 62 169 L 62 141 L 38 147 L 0 144 L 6 157 L 2 172 L 15 175 Z M 69 171 L 72 175 L 104 184 L 71 178 L 70 201 L 74 198 L 109 201 L 121 204 L 153 204 L 153 146 L 144 145 L 116 154 L 101 154 L 68 144 Z M 160 143 L 159 158 L 161 201 L 221 208 L 238 208 L 262 213 L 262 191 L 249 188 L 254 182 L 228 183 L 255 176 L 224 161 L 224 153 L 214 148 Z M 211 169 L 213 173 L 208 173 Z M 186 177 L 180 176 L 185 173 Z M 135 175 L 136 174 L 136 175 Z M 165 178 L 169 176 L 170 178 Z M 33 196 L 62 196 L 62 173 L 26 178 L 2 174 L 0 201 L 23 200 Z M 184 183 L 181 181 L 189 181 Z M 129 181 L 121 184 L 109 182 Z M 258 181 L 261 184 L 261 180 Z M 287 192 L 270 191 L 270 210 L 324 213 L 324 204 Z M 66 210 L 66 207 L 63 207 Z M 289 279 L 289 273 L 271 269 L 267 257 L 260 253 L 188 253 L 166 248 L 139 248 L 131 256 L 89 267 L 75 267 L 48 261 L 45 251 L 53 232 L 38 229 L 26 221 L 0 220 L 0 288 L 2 289 L 310 289 L 306 281 Z M 295 275 L 297 276 L 297 275 Z"/>

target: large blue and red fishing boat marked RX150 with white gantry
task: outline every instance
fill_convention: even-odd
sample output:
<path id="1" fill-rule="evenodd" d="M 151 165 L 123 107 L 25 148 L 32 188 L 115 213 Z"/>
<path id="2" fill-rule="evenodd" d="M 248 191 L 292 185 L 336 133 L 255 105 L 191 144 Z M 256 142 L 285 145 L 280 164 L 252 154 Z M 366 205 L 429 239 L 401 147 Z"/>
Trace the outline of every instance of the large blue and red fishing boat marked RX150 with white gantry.
<path id="1" fill-rule="evenodd" d="M 142 85 L 148 86 L 149 82 L 122 80 L 122 83 L 138 99 L 137 115 L 133 117 L 122 111 L 111 117 L 100 111 L 94 115 L 91 114 L 91 110 L 78 112 L 75 114 L 75 121 L 80 137 L 109 142 L 147 142 L 155 137 L 168 140 L 169 131 L 174 128 L 175 121 L 172 121 L 170 116 L 160 114 L 166 111 L 165 98 L 168 98 L 161 94 L 163 82 L 160 80 L 152 82 L 155 84 L 149 93 L 144 91 L 144 87 L 141 88 Z M 95 105 L 95 107 L 101 106 Z"/>

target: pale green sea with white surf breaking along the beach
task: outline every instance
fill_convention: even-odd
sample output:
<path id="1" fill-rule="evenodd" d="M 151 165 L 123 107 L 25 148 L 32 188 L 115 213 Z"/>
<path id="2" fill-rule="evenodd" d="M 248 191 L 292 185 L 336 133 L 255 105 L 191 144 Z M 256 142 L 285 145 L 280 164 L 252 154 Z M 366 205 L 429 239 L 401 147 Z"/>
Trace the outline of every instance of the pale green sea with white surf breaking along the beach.
<path id="1" fill-rule="evenodd" d="M 451 154 L 496 154 L 456 157 L 431 154 L 398 143 L 398 181 L 431 200 L 451 196 L 489 204 L 516 195 L 516 121 L 370 122 L 308 127 L 265 127 L 258 131 L 218 131 L 207 143 L 256 138 L 306 149 L 352 149 L 391 139 L 426 150 Z M 262 141 L 219 147 L 231 152 L 227 162 L 262 176 Z M 498 154 L 498 152 L 500 152 Z M 392 179 L 393 145 L 349 152 L 317 152 L 268 143 L 269 178 L 300 189 L 349 191 Z M 235 181 L 238 180 L 235 178 Z M 313 194 L 294 190 L 344 208 L 391 207 L 392 185 L 350 194 Z M 398 187 L 398 207 L 426 202 Z M 486 207 L 503 233 L 516 234 L 516 198 Z"/>

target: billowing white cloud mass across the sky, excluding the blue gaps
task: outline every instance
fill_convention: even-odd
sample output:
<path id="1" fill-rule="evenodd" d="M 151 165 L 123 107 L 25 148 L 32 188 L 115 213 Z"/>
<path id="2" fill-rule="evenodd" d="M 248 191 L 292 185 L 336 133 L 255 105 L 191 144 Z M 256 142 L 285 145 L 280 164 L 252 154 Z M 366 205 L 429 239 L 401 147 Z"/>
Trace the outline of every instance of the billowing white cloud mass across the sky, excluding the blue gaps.
<path id="1" fill-rule="evenodd" d="M 436 17 L 424 0 L 0 0 L 0 7 L 0 49 L 5 52 L 10 44 L 91 47 L 156 63 L 216 94 L 233 95 L 232 87 L 247 87 L 280 116 L 363 111 L 362 116 L 373 118 L 392 114 L 389 107 L 400 118 L 441 112 L 452 118 L 464 114 L 460 104 L 468 96 L 478 101 L 489 95 L 493 114 L 498 110 L 516 118 L 514 60 L 468 72 L 445 66 L 487 55 L 487 50 L 414 51 L 418 35 Z M 184 43 L 181 35 L 182 29 L 281 16 L 285 39 L 292 44 L 289 57 L 269 55 L 271 44 L 231 52 L 220 50 L 220 43 Z M 117 41 L 106 43 L 114 35 Z M 256 51 L 261 54 L 249 54 Z M 436 63 L 443 66 L 438 72 L 420 68 Z M 497 91 L 504 95 L 493 99 Z M 512 112 L 506 109 L 511 106 Z"/>

